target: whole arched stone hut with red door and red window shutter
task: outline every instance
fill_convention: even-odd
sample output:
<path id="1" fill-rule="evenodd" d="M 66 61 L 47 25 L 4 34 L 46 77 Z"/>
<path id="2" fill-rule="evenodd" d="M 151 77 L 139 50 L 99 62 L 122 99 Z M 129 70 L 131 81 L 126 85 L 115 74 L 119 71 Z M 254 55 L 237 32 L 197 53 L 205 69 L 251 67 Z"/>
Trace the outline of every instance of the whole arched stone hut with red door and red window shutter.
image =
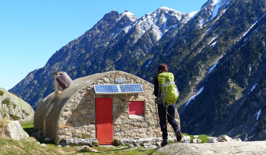
<path id="1" fill-rule="evenodd" d="M 94 85 L 121 84 L 115 83 L 115 78 L 123 78 L 123 84 L 141 84 L 144 92 L 95 94 Z M 36 108 L 34 129 L 55 142 L 90 137 L 97 138 L 100 145 L 112 144 L 117 138 L 160 137 L 154 99 L 151 83 L 122 71 L 81 77 L 61 91 L 55 80 L 55 92 Z M 168 130 L 173 136 L 170 126 Z"/>

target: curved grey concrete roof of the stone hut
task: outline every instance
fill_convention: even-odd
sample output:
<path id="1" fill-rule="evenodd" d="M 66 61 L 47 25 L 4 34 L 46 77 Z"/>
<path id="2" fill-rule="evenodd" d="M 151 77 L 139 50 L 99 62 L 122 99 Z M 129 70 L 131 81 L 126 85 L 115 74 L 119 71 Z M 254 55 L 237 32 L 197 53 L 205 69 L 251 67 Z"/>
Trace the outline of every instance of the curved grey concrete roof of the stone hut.
<path id="1" fill-rule="evenodd" d="M 39 102 L 39 105 L 35 110 L 34 129 L 38 131 L 42 130 L 45 137 L 50 137 L 54 141 L 59 141 L 59 134 L 57 132 L 59 121 L 61 118 L 60 116 L 62 115 L 66 104 L 72 98 L 72 96 L 76 96 L 79 91 L 82 91 L 84 88 L 88 87 L 89 85 L 92 85 L 95 81 L 101 80 L 102 77 L 114 75 L 117 73 L 131 75 L 122 71 L 97 73 L 73 80 L 73 83 L 57 97 L 54 97 L 55 92 L 49 94 L 47 97 L 45 97 Z M 131 76 L 134 77 L 135 75 Z M 135 77 L 136 79 L 141 79 L 140 77 Z"/>

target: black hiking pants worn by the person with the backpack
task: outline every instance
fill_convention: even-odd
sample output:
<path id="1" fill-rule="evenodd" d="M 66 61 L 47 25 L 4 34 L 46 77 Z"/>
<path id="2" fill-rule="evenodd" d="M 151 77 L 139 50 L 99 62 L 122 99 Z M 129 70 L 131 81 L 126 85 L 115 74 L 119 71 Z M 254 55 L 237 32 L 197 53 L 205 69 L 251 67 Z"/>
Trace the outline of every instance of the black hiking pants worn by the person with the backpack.
<path id="1" fill-rule="evenodd" d="M 165 106 L 167 106 L 167 104 L 165 104 Z M 166 113 L 165 106 L 164 106 L 164 104 L 157 105 L 158 115 L 159 115 L 159 120 L 160 120 L 160 126 L 161 126 L 161 132 L 163 132 L 163 134 L 162 134 L 163 139 L 167 139 L 167 136 L 168 136 L 168 134 L 167 134 L 167 122 L 172 126 L 174 131 L 179 129 L 179 126 L 178 126 L 176 120 L 173 118 L 175 113 L 176 113 L 176 111 L 175 111 L 176 110 L 176 104 L 168 106 L 167 112 L 172 117 Z M 167 117 L 167 122 L 166 122 L 166 117 Z"/>

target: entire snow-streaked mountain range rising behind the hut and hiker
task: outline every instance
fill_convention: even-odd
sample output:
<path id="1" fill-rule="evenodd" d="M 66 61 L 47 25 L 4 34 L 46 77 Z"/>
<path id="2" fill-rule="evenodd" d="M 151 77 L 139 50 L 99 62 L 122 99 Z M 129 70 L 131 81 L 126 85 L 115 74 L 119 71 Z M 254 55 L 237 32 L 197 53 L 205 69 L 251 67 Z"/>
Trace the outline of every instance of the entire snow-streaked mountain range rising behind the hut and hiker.
<path id="1" fill-rule="evenodd" d="M 53 91 L 54 71 L 76 79 L 121 70 L 152 82 L 165 62 L 181 92 L 182 131 L 264 140 L 265 86 L 248 93 L 265 76 L 265 9 L 261 0 L 208 0 L 188 14 L 162 7 L 137 19 L 111 11 L 9 91 L 36 107 Z"/>

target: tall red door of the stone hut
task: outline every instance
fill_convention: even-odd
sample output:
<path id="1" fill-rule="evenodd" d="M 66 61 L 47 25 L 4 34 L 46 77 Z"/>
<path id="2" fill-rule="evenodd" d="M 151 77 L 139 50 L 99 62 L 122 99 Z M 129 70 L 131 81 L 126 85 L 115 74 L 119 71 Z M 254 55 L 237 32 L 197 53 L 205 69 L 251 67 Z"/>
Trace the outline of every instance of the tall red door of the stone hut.
<path id="1" fill-rule="evenodd" d="M 96 98 L 96 136 L 100 145 L 113 144 L 112 98 Z"/>

